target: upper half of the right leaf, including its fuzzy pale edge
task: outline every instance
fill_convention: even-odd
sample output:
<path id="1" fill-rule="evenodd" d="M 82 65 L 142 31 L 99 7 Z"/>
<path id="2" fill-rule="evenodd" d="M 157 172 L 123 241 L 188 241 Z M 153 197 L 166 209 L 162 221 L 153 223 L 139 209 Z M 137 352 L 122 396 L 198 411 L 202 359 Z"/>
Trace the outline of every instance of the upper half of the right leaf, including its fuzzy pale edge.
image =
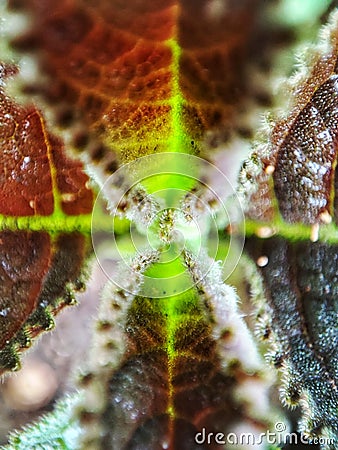
<path id="1" fill-rule="evenodd" d="M 258 143 L 242 173 L 250 217 L 271 220 L 278 211 L 286 222 L 313 224 L 328 223 L 335 214 L 337 20 L 331 17 L 325 39 L 313 50 L 312 66 L 290 81 L 289 115 L 265 136 L 267 145 Z"/>

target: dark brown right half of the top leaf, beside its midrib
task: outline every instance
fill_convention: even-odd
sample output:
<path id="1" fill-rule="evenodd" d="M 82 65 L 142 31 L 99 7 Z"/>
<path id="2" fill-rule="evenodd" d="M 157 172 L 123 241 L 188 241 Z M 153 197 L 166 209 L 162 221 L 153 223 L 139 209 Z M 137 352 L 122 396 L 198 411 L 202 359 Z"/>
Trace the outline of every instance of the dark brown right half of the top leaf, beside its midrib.
<path id="1" fill-rule="evenodd" d="M 185 117 L 200 122 L 199 130 L 195 124 L 187 128 L 203 133 L 231 122 L 233 106 L 238 106 L 247 93 L 243 69 L 250 58 L 249 42 L 259 0 L 230 0 L 218 10 L 206 0 L 178 3 L 180 88 L 187 100 Z"/>

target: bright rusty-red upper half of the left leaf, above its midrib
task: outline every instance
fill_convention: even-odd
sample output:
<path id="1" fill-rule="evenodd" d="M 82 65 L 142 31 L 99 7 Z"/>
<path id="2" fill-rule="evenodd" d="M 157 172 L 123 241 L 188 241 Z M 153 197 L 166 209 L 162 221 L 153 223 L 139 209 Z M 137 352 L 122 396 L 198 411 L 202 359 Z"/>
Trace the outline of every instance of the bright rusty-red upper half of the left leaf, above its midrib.
<path id="1" fill-rule="evenodd" d="M 93 193 L 80 161 L 69 159 L 63 143 L 45 129 L 34 106 L 21 106 L 0 89 L 0 214 L 50 215 L 54 211 L 51 171 L 66 214 L 89 214 Z"/>

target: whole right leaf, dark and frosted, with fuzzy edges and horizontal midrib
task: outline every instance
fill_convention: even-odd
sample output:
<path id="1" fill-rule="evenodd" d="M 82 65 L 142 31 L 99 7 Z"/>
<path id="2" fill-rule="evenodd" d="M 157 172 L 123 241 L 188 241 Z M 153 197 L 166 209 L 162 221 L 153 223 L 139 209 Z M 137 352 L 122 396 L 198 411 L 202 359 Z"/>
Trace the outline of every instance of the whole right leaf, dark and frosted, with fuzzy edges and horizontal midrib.
<path id="1" fill-rule="evenodd" d="M 282 372 L 282 400 L 301 405 L 300 431 L 331 439 L 338 436 L 337 31 L 335 11 L 309 50 L 311 65 L 289 83 L 291 112 L 241 173 L 254 219 L 246 249 L 266 298 L 260 335 Z"/>

